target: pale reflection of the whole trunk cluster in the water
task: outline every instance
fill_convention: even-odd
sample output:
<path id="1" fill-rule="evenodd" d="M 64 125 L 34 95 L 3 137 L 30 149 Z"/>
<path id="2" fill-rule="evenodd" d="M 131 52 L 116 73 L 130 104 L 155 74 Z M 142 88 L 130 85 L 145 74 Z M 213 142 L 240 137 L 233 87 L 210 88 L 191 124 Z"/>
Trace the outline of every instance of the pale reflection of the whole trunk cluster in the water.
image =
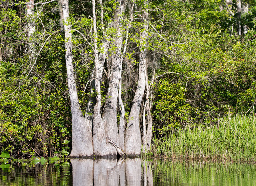
<path id="1" fill-rule="evenodd" d="M 74 186 L 153 185 L 151 164 L 141 161 L 140 158 L 125 160 L 71 159 L 71 163 Z"/>

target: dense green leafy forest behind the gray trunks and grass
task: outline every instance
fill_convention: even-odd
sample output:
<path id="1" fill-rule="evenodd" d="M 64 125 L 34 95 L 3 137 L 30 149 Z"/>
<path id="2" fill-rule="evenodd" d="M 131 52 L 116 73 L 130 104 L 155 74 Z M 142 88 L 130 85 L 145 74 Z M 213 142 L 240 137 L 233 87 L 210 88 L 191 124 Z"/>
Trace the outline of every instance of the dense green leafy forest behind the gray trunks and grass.
<path id="1" fill-rule="evenodd" d="M 145 2 L 134 1 L 135 16 L 130 19 L 131 2 L 125 1 L 122 34 L 125 38 L 126 29 L 129 33 L 122 99 L 126 124 L 139 76 L 143 10 L 148 11 L 148 87 L 139 123 L 143 133 L 143 121 L 150 122 L 147 117 L 143 120 L 148 101 L 152 148 L 156 140 L 164 140 L 188 126 L 218 125 L 220 117 L 254 110 L 254 1 Z M 0 5 L 0 148 L 19 158 L 34 154 L 51 157 L 57 150 L 70 152 L 72 148 L 64 26 L 58 1 L 35 2 L 33 14 L 29 14 L 28 3 L 2 0 Z M 111 21 L 117 4 L 115 0 L 102 1 L 102 5 L 96 1 L 98 25 L 110 25 L 109 35 L 115 33 Z M 69 1 L 73 65 L 83 108 L 91 96 L 95 60 L 92 11 L 90 1 Z M 35 30 L 31 31 L 31 25 Z M 98 40 L 103 40 L 102 31 L 98 32 Z M 109 56 L 114 49 L 110 44 Z M 107 99 L 109 76 L 106 60 L 101 107 Z"/>

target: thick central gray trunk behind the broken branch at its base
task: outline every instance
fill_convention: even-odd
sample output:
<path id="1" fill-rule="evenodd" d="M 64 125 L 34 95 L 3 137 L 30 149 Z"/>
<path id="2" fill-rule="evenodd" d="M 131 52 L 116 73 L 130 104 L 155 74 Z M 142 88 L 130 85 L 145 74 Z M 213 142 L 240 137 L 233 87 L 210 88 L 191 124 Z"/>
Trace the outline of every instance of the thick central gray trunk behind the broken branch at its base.
<path id="1" fill-rule="evenodd" d="M 116 13 L 114 16 L 114 28 L 116 29 L 116 36 L 114 38 L 113 45 L 116 46 L 115 52 L 111 55 L 111 73 L 109 79 L 109 87 L 107 93 L 107 100 L 105 102 L 104 111 L 102 114 L 102 120 L 104 122 L 106 135 L 112 141 L 119 144 L 119 135 L 117 128 L 117 99 L 119 90 L 119 79 L 122 66 L 121 49 L 122 49 L 122 19 L 125 9 L 125 1 L 121 0 L 117 5 Z M 114 146 L 111 147 L 112 152 L 116 154 Z"/>

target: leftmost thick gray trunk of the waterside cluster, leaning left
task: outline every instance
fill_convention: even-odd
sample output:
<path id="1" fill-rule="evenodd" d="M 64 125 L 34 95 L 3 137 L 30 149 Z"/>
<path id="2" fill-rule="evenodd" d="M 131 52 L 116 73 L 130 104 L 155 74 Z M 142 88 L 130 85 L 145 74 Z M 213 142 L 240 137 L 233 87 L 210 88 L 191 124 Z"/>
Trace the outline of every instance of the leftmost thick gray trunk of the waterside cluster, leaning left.
<path id="1" fill-rule="evenodd" d="M 71 26 L 69 22 L 68 0 L 60 0 L 65 31 L 65 58 L 68 76 L 68 90 L 71 103 L 72 115 L 72 151 L 70 156 L 83 157 L 93 154 L 92 146 L 92 124 L 85 119 L 77 96 L 74 68 L 72 64 Z"/>

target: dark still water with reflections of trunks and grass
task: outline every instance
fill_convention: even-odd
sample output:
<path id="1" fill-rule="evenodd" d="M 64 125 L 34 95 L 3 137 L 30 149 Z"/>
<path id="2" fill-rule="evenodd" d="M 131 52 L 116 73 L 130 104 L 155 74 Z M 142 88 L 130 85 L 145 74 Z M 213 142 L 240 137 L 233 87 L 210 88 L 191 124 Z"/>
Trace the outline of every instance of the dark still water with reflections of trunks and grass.
<path id="1" fill-rule="evenodd" d="M 54 164 L 13 163 L 0 168 L 0 185 L 256 185 L 256 165 L 242 163 L 73 159 Z"/>

